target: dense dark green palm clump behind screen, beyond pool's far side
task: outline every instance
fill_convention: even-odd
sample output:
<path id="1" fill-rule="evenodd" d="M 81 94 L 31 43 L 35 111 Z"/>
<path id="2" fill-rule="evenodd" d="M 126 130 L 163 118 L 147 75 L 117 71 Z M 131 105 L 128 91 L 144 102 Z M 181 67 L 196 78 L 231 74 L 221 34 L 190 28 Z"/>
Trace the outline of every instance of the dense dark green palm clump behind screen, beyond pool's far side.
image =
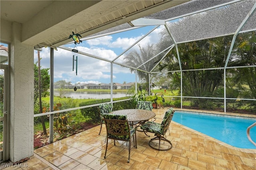
<path id="1" fill-rule="evenodd" d="M 182 70 L 223 67 L 230 48 L 232 36 L 204 39 L 178 44 Z M 162 41 L 164 43 L 164 41 Z M 158 45 L 159 46 L 159 45 Z M 160 63 L 160 70 L 180 70 L 176 50 L 170 51 Z M 168 73 L 172 83 L 180 84 L 180 72 Z M 224 85 L 223 70 L 197 70 L 182 72 L 182 93 L 184 96 L 222 97 L 218 89 Z M 194 106 L 206 105 L 206 99 L 193 98 Z"/>

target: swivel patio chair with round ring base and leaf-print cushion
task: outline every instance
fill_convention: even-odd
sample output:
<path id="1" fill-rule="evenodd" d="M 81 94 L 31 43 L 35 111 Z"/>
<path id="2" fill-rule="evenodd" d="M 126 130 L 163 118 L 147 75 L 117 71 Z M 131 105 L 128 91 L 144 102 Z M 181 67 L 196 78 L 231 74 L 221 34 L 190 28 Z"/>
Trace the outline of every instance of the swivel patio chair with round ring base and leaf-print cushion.
<path id="1" fill-rule="evenodd" d="M 142 129 L 144 131 L 155 134 L 156 137 L 154 137 L 153 139 L 150 139 L 150 141 L 148 143 L 151 148 L 156 149 L 156 150 L 172 149 L 171 141 L 166 139 L 164 136 L 166 136 L 165 134 L 166 134 L 166 132 L 169 128 L 169 125 L 172 121 L 173 115 L 174 115 L 174 110 L 171 107 L 170 109 L 168 109 L 168 111 L 166 111 L 164 118 L 162 119 L 162 123 L 154 122 L 156 119 L 159 119 L 159 118 L 155 117 L 154 121 L 148 121 L 140 127 L 140 129 Z M 154 143 L 153 142 L 154 140 L 158 140 L 158 143 Z M 164 142 L 161 143 L 161 141 L 164 141 L 164 142 L 166 141 L 170 145 L 165 145 Z"/>

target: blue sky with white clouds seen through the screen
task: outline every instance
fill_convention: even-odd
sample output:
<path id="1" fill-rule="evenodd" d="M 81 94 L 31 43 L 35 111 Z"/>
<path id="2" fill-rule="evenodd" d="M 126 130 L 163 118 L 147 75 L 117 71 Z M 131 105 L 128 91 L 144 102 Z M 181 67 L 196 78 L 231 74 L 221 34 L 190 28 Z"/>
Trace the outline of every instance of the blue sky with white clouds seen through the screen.
<path id="1" fill-rule="evenodd" d="M 78 49 L 84 53 L 89 53 L 104 59 L 113 60 L 123 51 L 128 49 L 138 39 L 146 35 L 150 30 L 154 29 L 155 26 L 142 27 L 133 29 L 121 33 L 112 35 L 106 35 L 104 37 L 98 37 L 95 39 L 84 40 L 80 44 L 74 44 L 71 42 L 65 47 L 71 49 Z M 159 41 L 158 33 L 163 27 L 158 27 L 152 33 L 142 39 L 139 44 L 143 47 L 147 43 L 157 43 Z M 72 33 L 71 33 L 72 34 Z M 70 39 L 72 41 L 72 39 Z M 58 80 L 65 80 L 72 84 L 78 83 L 110 83 L 110 63 L 94 59 L 92 57 L 80 55 L 78 53 L 70 52 L 64 49 L 57 48 L 54 50 L 54 82 Z M 138 45 L 135 45 L 132 49 L 127 51 L 124 55 L 130 51 L 138 49 Z M 76 61 L 74 61 L 73 71 L 73 55 L 74 59 L 76 56 L 77 60 L 77 75 L 76 75 Z M 40 65 L 41 68 L 50 68 L 50 48 L 46 47 L 40 51 Z M 38 61 L 38 52 L 34 52 L 34 63 Z M 118 58 L 116 62 L 123 62 L 123 56 Z M 138 80 L 139 81 L 139 80 Z M 129 68 L 113 65 L 113 82 L 116 83 L 128 83 L 135 82 L 135 75 L 131 74 Z"/>

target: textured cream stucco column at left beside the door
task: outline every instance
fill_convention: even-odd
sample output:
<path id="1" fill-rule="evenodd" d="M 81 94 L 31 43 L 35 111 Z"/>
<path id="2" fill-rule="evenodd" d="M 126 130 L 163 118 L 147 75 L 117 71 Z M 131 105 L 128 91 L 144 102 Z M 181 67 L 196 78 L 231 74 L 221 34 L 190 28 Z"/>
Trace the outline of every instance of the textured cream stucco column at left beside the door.
<path id="1" fill-rule="evenodd" d="M 21 43 L 22 25 L 12 23 L 10 45 L 10 160 L 33 155 L 34 47 Z"/>

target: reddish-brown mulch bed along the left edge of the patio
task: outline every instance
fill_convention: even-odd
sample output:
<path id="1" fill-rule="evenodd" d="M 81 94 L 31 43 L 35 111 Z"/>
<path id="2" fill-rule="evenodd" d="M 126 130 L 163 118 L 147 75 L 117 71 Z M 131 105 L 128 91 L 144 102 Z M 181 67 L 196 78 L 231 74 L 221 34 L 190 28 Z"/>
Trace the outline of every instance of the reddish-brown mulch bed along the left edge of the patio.
<path id="1" fill-rule="evenodd" d="M 76 133 L 80 133 L 82 131 L 85 131 L 87 129 L 91 129 L 92 127 L 98 126 L 98 124 L 93 124 L 93 123 L 87 123 L 84 122 L 80 124 L 80 129 L 76 129 L 74 131 L 70 131 L 68 136 L 74 135 Z M 45 145 L 48 145 L 48 140 L 49 140 L 49 129 L 47 130 L 47 135 L 44 135 L 43 131 L 38 131 L 36 134 L 34 134 L 34 149 L 38 149 L 40 147 L 43 147 Z M 66 137 L 63 137 L 64 139 Z M 57 141 L 56 138 L 54 138 L 54 142 Z M 60 140 L 60 139 L 59 139 Z"/>

